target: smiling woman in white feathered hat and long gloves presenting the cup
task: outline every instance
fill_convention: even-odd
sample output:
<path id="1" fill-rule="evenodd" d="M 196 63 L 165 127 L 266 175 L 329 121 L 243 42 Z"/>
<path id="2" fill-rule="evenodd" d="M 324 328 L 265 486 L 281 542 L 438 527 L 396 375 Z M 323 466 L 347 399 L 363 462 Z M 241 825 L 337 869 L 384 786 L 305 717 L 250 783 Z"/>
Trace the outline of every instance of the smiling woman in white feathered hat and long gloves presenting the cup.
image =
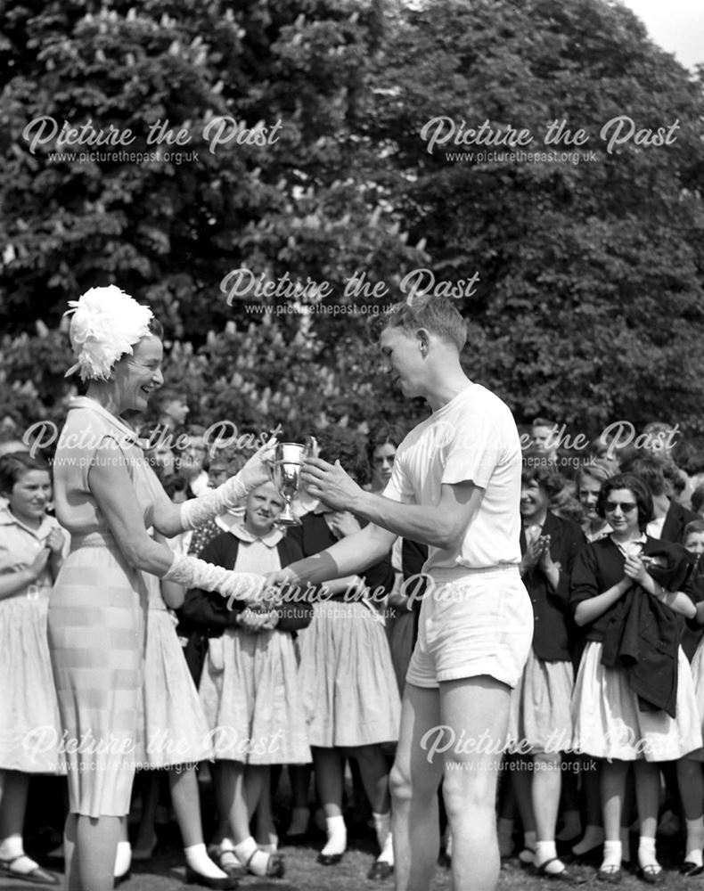
<path id="1" fill-rule="evenodd" d="M 148 307 L 119 288 L 94 288 L 70 304 L 70 338 L 86 396 L 75 399 L 54 459 L 56 514 L 71 535 L 49 607 L 48 632 L 67 738 L 70 815 L 66 887 L 109 891 L 121 822 L 135 773 L 147 593 L 142 573 L 218 591 L 247 604 L 264 596 L 261 576 L 175 556 L 149 535 L 192 529 L 268 479 L 267 444 L 237 477 L 175 505 L 160 486 L 126 412 L 143 412 L 163 383 L 162 329 Z M 205 875 L 205 850 L 186 852 L 187 879 Z M 212 865 L 212 864 L 211 864 Z"/>

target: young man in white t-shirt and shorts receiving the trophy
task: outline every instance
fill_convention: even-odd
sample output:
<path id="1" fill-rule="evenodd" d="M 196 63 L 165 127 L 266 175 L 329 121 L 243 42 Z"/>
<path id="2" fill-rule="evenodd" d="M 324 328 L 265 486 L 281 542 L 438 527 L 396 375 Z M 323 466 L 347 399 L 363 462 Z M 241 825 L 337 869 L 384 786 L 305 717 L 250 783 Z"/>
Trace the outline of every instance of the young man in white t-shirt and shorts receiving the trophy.
<path id="1" fill-rule="evenodd" d="M 454 887 L 486 891 L 499 871 L 495 787 L 509 693 L 533 635 L 518 568 L 520 439 L 508 407 L 464 374 L 466 325 L 450 300 L 399 304 L 382 320 L 379 346 L 392 379 L 405 396 L 425 397 L 432 414 L 398 447 L 383 495 L 356 486 L 339 464 L 307 462 L 311 495 L 370 523 L 271 581 L 347 576 L 379 560 L 399 535 L 429 545 L 391 774 L 396 884 L 430 887 L 444 780 Z"/>

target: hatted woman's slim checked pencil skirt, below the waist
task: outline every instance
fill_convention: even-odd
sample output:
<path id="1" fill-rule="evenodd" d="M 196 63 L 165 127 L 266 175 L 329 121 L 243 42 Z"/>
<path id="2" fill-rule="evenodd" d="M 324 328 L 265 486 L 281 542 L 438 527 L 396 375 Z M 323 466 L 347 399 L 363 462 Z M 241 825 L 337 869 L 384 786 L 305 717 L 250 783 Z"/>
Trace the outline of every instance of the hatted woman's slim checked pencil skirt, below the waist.
<path id="1" fill-rule="evenodd" d="M 111 536 L 72 548 L 48 615 L 70 812 L 124 816 L 140 746 L 146 589 Z"/>

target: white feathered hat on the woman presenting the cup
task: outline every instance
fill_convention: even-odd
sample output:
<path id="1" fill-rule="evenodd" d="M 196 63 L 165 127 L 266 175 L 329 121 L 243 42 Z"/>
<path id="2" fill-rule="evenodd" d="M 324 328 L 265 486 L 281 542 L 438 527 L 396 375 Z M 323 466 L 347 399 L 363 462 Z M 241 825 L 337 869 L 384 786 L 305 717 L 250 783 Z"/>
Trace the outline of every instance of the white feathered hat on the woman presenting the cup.
<path id="1" fill-rule="evenodd" d="M 69 334 L 78 362 L 66 372 L 67 378 L 79 372 L 81 380 L 108 380 L 119 357 L 131 356 L 132 347 L 151 333 L 151 309 L 114 284 L 86 290 L 69 306 L 63 315 L 72 314 Z"/>

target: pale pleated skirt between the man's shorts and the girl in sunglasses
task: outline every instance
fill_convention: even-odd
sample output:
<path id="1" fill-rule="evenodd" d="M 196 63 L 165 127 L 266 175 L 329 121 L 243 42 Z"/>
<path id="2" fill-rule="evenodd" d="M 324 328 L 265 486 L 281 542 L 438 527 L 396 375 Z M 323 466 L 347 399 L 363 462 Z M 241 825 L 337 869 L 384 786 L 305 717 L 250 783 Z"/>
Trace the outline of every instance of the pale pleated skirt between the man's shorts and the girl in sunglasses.
<path id="1" fill-rule="evenodd" d="M 569 750 L 573 686 L 571 662 L 546 662 L 530 648 L 520 682 L 511 691 L 509 752 L 528 755 Z"/>

